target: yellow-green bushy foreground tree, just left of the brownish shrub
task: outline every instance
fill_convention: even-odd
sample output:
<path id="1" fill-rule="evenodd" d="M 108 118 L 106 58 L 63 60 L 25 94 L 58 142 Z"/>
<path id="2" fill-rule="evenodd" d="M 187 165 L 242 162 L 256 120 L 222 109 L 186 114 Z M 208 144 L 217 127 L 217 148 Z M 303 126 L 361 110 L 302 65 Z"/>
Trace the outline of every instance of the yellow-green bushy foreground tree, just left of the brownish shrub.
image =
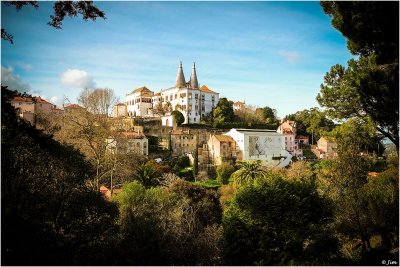
<path id="1" fill-rule="evenodd" d="M 121 234 L 118 265 L 166 265 L 168 226 L 174 222 L 176 198 L 166 190 L 125 184 L 113 198 L 119 206 Z"/>

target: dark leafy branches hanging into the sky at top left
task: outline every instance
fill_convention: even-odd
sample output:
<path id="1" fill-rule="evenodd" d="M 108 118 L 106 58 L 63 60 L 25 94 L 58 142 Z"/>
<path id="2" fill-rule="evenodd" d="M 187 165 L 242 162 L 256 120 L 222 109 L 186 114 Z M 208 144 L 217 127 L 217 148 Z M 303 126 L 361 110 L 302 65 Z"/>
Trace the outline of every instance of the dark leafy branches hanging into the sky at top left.
<path id="1" fill-rule="evenodd" d="M 3 3 L 5 5 L 14 5 L 17 11 L 28 5 L 36 9 L 39 7 L 37 1 L 7 1 L 2 2 L 2 4 Z M 53 10 L 54 13 L 50 16 L 51 21 L 47 24 L 56 29 L 61 29 L 62 22 L 66 16 L 76 17 L 80 14 L 85 21 L 88 19 L 95 21 L 97 18 L 106 18 L 105 13 L 93 5 L 93 1 L 56 1 Z M 7 33 L 3 28 L 1 28 L 1 38 L 14 43 L 13 36 Z"/>

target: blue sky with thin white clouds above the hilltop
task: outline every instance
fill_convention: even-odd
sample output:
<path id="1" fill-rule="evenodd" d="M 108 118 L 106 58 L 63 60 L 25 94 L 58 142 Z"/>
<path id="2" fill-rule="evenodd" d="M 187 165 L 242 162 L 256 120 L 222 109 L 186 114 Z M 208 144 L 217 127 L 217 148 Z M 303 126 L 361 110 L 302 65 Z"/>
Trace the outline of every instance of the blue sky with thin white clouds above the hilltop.
<path id="1" fill-rule="evenodd" d="M 2 83 L 60 105 L 83 86 L 109 87 L 121 101 L 133 89 L 171 87 L 179 61 L 196 62 L 199 83 L 229 100 L 270 106 L 278 115 L 318 106 L 346 41 L 319 2 L 94 2 L 106 20 L 46 23 L 52 2 L 17 12 L 2 3 Z"/>

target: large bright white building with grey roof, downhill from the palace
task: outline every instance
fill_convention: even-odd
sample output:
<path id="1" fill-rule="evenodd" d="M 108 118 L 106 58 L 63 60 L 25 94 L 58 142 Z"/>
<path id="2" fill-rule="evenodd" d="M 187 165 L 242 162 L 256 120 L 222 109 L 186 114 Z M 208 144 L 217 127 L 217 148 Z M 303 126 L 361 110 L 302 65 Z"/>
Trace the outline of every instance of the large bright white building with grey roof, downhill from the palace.
<path id="1" fill-rule="evenodd" d="M 285 136 L 273 130 L 231 129 L 225 135 L 235 140 L 242 152 L 241 160 L 261 160 L 271 167 L 285 167 L 291 161 L 292 155 L 285 149 Z"/>

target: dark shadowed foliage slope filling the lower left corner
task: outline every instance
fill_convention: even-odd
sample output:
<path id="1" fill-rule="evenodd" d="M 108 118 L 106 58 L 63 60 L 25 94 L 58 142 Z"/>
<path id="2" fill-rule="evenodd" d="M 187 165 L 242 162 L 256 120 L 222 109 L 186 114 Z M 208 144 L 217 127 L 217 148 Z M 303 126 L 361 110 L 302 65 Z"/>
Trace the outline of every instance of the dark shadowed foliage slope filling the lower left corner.
<path id="1" fill-rule="evenodd" d="M 83 155 L 16 117 L 2 87 L 2 263 L 111 264 L 115 205 L 87 186 Z"/>

